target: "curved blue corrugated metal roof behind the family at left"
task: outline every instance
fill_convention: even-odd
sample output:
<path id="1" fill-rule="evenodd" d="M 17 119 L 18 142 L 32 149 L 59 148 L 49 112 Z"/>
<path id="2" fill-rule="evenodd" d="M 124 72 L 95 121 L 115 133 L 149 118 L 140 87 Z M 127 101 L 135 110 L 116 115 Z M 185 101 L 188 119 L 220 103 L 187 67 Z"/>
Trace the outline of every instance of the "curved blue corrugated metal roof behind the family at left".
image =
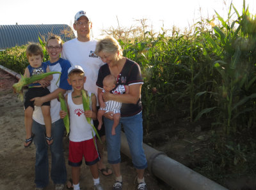
<path id="1" fill-rule="evenodd" d="M 36 24 L 36 25 L 0 25 L 0 49 L 26 45 L 29 42 L 38 43 L 38 36 L 45 40 L 49 34 L 56 34 L 63 41 L 70 40 L 63 31 L 72 29 L 67 24 Z M 74 33 L 72 38 L 74 38 Z"/>

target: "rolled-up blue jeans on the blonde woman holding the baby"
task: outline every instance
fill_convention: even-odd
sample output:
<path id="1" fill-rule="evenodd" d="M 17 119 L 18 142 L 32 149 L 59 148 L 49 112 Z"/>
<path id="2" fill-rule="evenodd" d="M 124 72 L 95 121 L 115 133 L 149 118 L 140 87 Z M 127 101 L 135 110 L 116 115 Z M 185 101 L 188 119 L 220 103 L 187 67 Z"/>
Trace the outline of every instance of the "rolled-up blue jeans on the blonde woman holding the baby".
<path id="1" fill-rule="evenodd" d="M 125 136 L 132 156 L 132 163 L 137 169 L 147 168 L 147 159 L 142 147 L 143 125 L 142 112 L 131 117 L 121 117 L 116 129 L 116 135 L 111 135 L 113 120 L 104 117 L 106 131 L 106 141 L 108 149 L 108 163 L 117 164 L 121 161 L 121 124 L 125 131 Z"/>

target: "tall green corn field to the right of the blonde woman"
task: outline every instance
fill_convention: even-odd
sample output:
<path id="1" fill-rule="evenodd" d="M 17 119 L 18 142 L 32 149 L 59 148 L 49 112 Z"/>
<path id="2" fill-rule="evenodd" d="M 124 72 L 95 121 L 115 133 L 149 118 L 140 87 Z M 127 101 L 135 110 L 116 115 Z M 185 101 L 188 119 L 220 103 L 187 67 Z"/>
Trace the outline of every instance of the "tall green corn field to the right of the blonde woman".
<path id="1" fill-rule="evenodd" d="M 197 24 L 193 35 L 150 32 L 141 41 L 120 43 L 124 55 L 138 62 L 144 77 L 142 90 L 145 127 L 162 113 L 186 104 L 191 122 L 214 118 L 225 135 L 255 124 L 256 20 L 244 4 L 231 22 L 216 13 L 220 26 Z M 231 17 L 231 15 L 228 15 Z"/>

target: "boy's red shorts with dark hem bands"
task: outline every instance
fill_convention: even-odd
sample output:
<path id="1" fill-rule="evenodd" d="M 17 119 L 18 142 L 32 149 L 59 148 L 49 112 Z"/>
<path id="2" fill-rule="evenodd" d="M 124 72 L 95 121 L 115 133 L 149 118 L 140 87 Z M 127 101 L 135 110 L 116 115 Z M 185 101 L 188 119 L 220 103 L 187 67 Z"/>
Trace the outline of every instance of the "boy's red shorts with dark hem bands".
<path id="1" fill-rule="evenodd" d="M 94 138 L 95 142 L 96 139 Z M 99 159 L 99 153 L 95 149 L 93 139 L 84 140 L 82 142 L 72 142 L 69 141 L 69 154 L 68 154 L 68 164 L 70 166 L 81 166 L 83 161 L 83 156 L 85 164 L 91 166 L 97 163 Z"/>

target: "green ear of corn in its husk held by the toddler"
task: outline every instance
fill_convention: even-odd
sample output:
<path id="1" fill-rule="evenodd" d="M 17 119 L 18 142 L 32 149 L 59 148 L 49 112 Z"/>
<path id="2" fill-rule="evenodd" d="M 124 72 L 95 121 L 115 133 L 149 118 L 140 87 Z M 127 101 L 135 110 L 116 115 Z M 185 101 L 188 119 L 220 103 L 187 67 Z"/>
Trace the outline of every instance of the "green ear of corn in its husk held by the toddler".
<path id="1" fill-rule="evenodd" d="M 24 75 L 21 75 L 19 82 L 12 85 L 13 90 L 14 92 L 17 92 L 19 94 L 20 101 L 23 101 L 24 98 L 23 98 L 22 87 L 29 85 L 35 82 L 36 80 L 42 80 L 43 78 L 56 73 L 61 74 L 61 72 L 51 71 L 48 73 L 42 73 L 40 75 L 33 75 L 31 77 L 25 77 Z"/>

